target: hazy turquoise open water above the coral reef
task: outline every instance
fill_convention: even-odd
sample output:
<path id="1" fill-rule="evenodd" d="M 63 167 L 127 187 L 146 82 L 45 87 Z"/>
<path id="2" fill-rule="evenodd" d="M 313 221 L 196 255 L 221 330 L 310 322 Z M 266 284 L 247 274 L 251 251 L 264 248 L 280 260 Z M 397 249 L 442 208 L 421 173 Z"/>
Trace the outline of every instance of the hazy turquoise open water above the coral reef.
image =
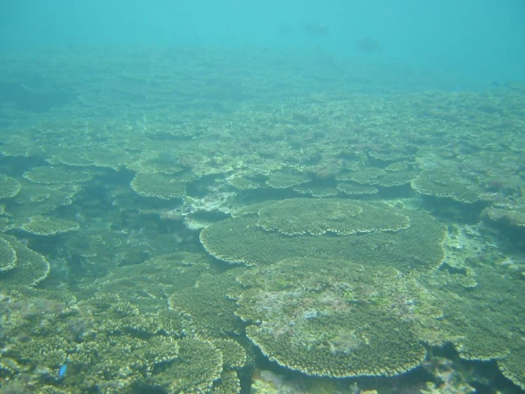
<path id="1" fill-rule="evenodd" d="M 447 75 L 459 85 L 525 79 L 520 0 L 5 0 L 0 11 L 2 48 L 319 47 L 333 56 L 359 58 L 352 43 L 369 36 L 381 45 L 374 60 Z M 305 32 L 314 23 L 323 23 L 328 34 Z"/>

